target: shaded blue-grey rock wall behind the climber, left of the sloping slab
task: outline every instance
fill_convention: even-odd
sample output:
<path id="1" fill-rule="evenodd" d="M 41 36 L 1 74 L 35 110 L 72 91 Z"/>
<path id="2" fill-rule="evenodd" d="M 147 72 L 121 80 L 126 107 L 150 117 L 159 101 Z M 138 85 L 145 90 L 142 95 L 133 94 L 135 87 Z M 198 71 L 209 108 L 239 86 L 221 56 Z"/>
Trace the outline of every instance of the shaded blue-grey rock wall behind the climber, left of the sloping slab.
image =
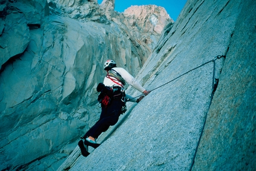
<path id="1" fill-rule="evenodd" d="M 145 63 L 160 33 L 145 43 L 105 14 L 96 1 L 1 2 L 0 170 L 57 170 L 99 117 L 104 61 L 132 75 Z"/>

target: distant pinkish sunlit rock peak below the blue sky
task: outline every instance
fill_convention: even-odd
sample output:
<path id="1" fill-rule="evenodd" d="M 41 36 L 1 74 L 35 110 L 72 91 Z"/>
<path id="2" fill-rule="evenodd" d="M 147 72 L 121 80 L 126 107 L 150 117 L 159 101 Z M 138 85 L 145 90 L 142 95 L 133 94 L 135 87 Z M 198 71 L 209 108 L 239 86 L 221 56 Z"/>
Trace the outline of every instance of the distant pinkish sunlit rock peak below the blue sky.
<path id="1" fill-rule="evenodd" d="M 148 13 L 148 11 L 153 11 Z M 132 6 L 124 11 L 121 23 L 124 23 L 135 42 L 145 43 L 151 49 L 157 45 L 158 34 L 164 29 L 166 23 L 173 24 L 166 9 L 155 5 Z M 137 34 L 142 31 L 143 34 Z"/>

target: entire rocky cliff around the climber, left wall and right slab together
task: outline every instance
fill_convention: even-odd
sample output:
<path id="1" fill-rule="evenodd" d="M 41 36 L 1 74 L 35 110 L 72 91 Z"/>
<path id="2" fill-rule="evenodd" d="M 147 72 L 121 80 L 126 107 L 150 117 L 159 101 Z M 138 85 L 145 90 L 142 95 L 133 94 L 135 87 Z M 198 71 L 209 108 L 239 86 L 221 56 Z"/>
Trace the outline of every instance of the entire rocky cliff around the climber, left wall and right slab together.
<path id="1" fill-rule="evenodd" d="M 30 23 L 14 2 L 1 5 L 0 54 L 17 49 L 1 69 L 1 169 L 255 170 L 254 1 L 188 0 L 160 37 L 159 13 L 136 23 L 141 7 L 116 14 L 114 1 L 51 1 L 50 10 L 32 2 L 40 20 Z M 26 36 L 2 39 L 10 23 Z M 10 48 L 17 41 L 23 50 Z M 112 56 L 152 92 L 128 103 L 83 157 L 77 141 L 99 115 L 95 87 Z"/>

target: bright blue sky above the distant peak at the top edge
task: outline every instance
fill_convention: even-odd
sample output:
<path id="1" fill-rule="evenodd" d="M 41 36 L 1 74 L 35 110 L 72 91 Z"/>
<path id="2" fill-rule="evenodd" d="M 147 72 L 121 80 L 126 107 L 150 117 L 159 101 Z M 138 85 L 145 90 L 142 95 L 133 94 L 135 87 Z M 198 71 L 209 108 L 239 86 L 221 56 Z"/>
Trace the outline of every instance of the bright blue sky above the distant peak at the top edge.
<path id="1" fill-rule="evenodd" d="M 174 21 L 177 20 L 180 11 L 186 4 L 187 0 L 115 0 L 115 11 L 124 12 L 124 9 L 129 8 L 132 5 L 157 5 L 164 7 L 167 13 L 173 18 Z M 102 0 L 98 0 L 98 4 L 101 4 Z"/>

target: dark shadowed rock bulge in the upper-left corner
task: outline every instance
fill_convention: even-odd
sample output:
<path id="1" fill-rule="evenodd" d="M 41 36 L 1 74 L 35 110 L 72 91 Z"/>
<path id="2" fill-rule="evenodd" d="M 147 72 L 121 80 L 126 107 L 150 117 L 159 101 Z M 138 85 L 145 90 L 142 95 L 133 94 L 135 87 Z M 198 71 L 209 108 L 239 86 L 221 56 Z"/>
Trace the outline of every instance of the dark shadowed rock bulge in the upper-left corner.
<path id="1" fill-rule="evenodd" d="M 30 29 L 40 27 L 42 18 L 49 14 L 46 1 L 3 1 L 0 6 L 0 65 L 13 56 L 20 56 L 30 42 Z M 11 59 L 10 59 L 11 58 Z M 1 67 L 1 70 L 3 68 Z M 0 70 L 0 71 L 1 71 Z"/>

